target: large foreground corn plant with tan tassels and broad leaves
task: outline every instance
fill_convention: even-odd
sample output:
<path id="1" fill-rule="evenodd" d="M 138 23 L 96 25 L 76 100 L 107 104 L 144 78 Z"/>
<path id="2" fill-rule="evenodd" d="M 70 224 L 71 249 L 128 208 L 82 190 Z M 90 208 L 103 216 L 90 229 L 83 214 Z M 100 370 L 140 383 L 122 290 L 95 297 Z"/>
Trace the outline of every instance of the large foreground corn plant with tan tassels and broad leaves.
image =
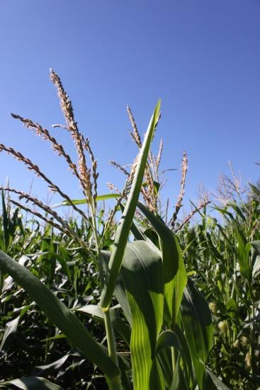
<path id="1" fill-rule="evenodd" d="M 84 304 L 69 307 L 52 291 L 54 268 L 53 258 L 60 261 L 64 272 L 69 275 L 66 258 L 52 241 L 43 242 L 42 257 L 47 269 L 45 280 L 40 280 L 21 261 L 14 260 L 5 253 L 9 251 L 5 243 L 0 252 L 1 280 L 9 275 L 29 294 L 32 302 L 40 307 L 47 319 L 55 324 L 60 334 L 86 359 L 90 360 L 103 373 L 109 389 L 227 389 L 207 366 L 208 355 L 213 344 L 213 323 L 210 309 L 198 291 L 193 280 L 188 277 L 183 263 L 179 241 L 158 214 L 157 171 L 152 171 L 149 162 L 154 161 L 150 144 L 154 137 L 160 115 L 160 101 L 147 127 L 145 139 L 138 137 L 135 121 L 130 109 L 128 113 L 133 125 L 132 137 L 140 149 L 132 164 L 125 188 L 118 194 L 98 195 L 97 162 L 91 150 L 89 139 L 79 132 L 74 120 L 72 103 L 62 86 L 59 76 L 51 71 L 52 82 L 57 87 L 66 125 L 59 125 L 69 131 L 74 140 L 78 162 L 74 164 L 62 145 L 58 144 L 50 132 L 38 123 L 13 115 L 26 127 L 49 141 L 52 148 L 66 159 L 69 168 L 79 180 L 84 198 L 72 200 L 60 187 L 48 178 L 30 159 L 11 147 L 0 144 L 0 151 L 6 151 L 23 162 L 30 170 L 43 178 L 50 189 L 58 193 L 63 204 L 73 207 L 82 219 L 91 226 L 91 236 L 81 236 L 74 224 L 64 220 L 52 207 L 44 205 L 35 197 L 13 188 L 4 188 L 16 193 L 20 200 L 32 202 L 40 211 L 31 210 L 16 200 L 10 200 L 22 210 L 30 211 L 47 226 L 60 231 L 81 248 L 83 256 L 96 263 L 99 277 L 100 302 L 96 305 Z M 91 168 L 86 164 L 86 153 Z M 159 152 L 160 153 L 160 152 Z M 184 160 L 185 161 L 185 160 Z M 155 161 L 155 168 L 158 163 Z M 146 181 L 144 181 L 144 176 Z M 185 180 L 185 178 L 184 178 Z M 143 195 L 145 203 L 140 201 Z M 181 191 L 183 196 L 183 185 Z M 108 197 L 118 198 L 103 229 L 99 226 L 97 202 Z M 78 205 L 86 205 L 88 212 Z M 103 241 L 118 207 L 122 215 L 116 226 L 115 238 L 111 247 L 103 249 Z M 181 198 L 176 213 L 181 207 Z M 138 210 L 146 224 L 154 232 L 147 235 L 135 222 Z M 44 212 L 44 214 L 43 214 Z M 176 221 L 174 214 L 172 226 Z M 130 235 L 134 239 L 130 239 Z M 57 243 L 60 246 L 60 243 Z M 47 256 L 46 256 L 47 253 Z M 70 275 L 72 277 L 72 275 Z M 77 289 L 77 286 L 75 286 Z M 84 296 L 83 296 L 84 297 Z M 79 314 L 87 314 L 94 321 L 103 323 L 106 332 L 106 345 L 100 343 L 89 332 Z M 3 340 L 2 340 L 3 342 Z M 122 351 L 123 349 L 126 351 Z M 126 352 L 126 353 L 125 353 Z M 20 388 L 60 389 L 43 377 L 22 377 L 2 386 L 15 385 Z"/>

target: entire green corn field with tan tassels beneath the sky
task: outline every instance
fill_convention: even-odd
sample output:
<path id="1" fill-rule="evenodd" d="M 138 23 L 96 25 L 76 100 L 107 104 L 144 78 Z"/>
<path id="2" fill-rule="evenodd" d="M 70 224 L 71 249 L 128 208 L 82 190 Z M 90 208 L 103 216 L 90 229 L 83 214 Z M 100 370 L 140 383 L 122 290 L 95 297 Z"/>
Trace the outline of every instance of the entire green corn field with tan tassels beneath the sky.
<path id="1" fill-rule="evenodd" d="M 144 139 L 128 107 L 137 157 L 129 169 L 112 161 L 125 186 L 110 183 L 111 193 L 99 194 L 94 151 L 60 77 L 50 76 L 77 162 L 49 130 L 12 116 L 67 161 L 82 195 L 71 199 L 33 161 L 0 144 L 60 197 L 50 207 L 1 188 L 0 388 L 260 389 L 259 188 L 249 185 L 246 197 L 224 177 L 220 200 L 205 197 L 181 220 L 183 153 L 170 214 L 163 143 L 156 156 L 150 149 L 159 101 Z M 107 199 L 115 203 L 109 212 Z M 59 206 L 78 217 L 64 218 Z"/>

